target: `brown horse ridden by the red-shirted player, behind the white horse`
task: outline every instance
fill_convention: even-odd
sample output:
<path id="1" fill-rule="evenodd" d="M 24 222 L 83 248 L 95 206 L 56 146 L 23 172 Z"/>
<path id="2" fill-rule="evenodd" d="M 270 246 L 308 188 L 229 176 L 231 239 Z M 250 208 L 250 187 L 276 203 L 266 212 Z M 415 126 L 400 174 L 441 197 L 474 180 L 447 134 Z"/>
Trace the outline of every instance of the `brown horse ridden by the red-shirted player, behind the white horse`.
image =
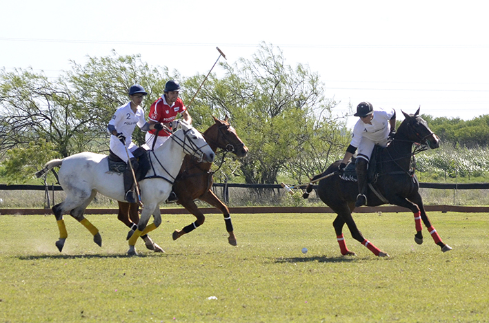
<path id="1" fill-rule="evenodd" d="M 241 141 L 236 133 L 236 129 L 230 125 L 228 116 L 226 115 L 223 121 L 214 116 L 212 118 L 214 118 L 214 124 L 203 132 L 203 138 L 206 139 L 212 151 L 219 154 L 217 149 L 221 149 L 220 152 L 224 152 L 223 160 L 228 152 L 231 152 L 238 158 L 245 157 L 248 154 L 248 147 Z M 234 236 L 229 209 L 215 196 L 211 189 L 213 183 L 212 178 L 215 172 L 210 171 L 211 166 L 212 163 L 199 162 L 199 160 L 189 155 L 183 158 L 180 172 L 173 184 L 173 191 L 177 195 L 177 203 L 185 207 L 197 220 L 183 227 L 181 230 L 176 229 L 172 234 L 172 238 L 173 240 L 177 240 L 184 234 L 202 225 L 206 220 L 206 217 L 194 202 L 194 200 L 199 199 L 208 202 L 223 213 L 226 231 L 229 233 L 228 242 L 232 246 L 236 246 L 237 241 L 236 236 Z M 131 228 L 131 231 L 139 221 L 138 206 L 137 203 L 119 201 L 117 218 Z M 132 235 L 131 231 L 128 236 Z M 146 244 L 146 247 L 150 250 L 162 251 L 157 244 Z"/>

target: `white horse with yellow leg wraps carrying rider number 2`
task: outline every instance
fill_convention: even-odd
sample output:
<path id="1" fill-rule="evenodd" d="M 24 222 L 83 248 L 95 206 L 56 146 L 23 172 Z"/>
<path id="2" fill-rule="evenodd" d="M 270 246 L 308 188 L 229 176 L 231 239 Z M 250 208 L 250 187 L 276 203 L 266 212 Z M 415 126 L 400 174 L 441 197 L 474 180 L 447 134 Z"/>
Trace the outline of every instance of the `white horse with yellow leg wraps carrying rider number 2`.
<path id="1" fill-rule="evenodd" d="M 129 255 L 137 254 L 134 245 L 139 236 L 145 236 L 161 224 L 159 204 L 170 195 L 183 157 L 189 154 L 208 163 L 214 160 L 214 152 L 197 129 L 183 121 L 179 124 L 181 129 L 170 136 L 172 140 L 166 140 L 161 147 L 149 152 L 152 167 L 146 174 L 146 178 L 139 182 L 143 210 L 138 228 L 129 239 Z M 40 177 L 54 167 L 60 167 L 59 184 L 66 192 L 66 199 L 52 207 L 59 227 L 59 240 L 56 242 L 56 247 L 61 252 L 68 238 L 63 220 L 63 214 L 68 213 L 85 226 L 94 236 L 94 242 L 101 246 L 99 230 L 83 216 L 83 212 L 97 192 L 114 200 L 123 201 L 122 174 L 108 170 L 108 156 L 82 152 L 64 159 L 50 160 L 41 171 L 36 173 L 36 176 Z M 154 221 L 148 225 L 151 215 Z"/>

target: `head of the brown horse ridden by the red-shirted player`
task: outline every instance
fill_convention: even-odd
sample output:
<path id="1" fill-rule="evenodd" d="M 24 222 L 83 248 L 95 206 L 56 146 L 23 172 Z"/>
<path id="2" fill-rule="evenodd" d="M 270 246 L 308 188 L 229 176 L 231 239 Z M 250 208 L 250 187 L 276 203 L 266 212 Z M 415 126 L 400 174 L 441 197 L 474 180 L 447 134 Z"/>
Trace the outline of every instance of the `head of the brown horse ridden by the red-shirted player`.
<path id="1" fill-rule="evenodd" d="M 226 115 L 224 120 L 219 120 L 215 116 L 212 116 L 212 118 L 214 118 L 214 125 L 203 133 L 208 143 L 214 147 L 224 149 L 226 152 L 232 152 L 239 158 L 245 157 L 248 154 L 248 147 L 239 138 L 236 129 L 229 124 L 228 116 Z"/>

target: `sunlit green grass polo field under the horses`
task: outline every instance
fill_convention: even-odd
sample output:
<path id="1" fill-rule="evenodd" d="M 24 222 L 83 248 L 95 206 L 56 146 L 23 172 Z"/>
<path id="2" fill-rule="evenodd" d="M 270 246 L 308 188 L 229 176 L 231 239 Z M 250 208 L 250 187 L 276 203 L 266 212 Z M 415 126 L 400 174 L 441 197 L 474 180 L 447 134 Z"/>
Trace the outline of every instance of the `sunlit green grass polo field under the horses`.
<path id="1" fill-rule="evenodd" d="M 357 213 L 363 234 L 390 258 L 353 240 L 339 253 L 332 214 L 222 216 L 177 241 L 194 220 L 164 216 L 151 236 L 166 253 L 125 256 L 126 227 L 88 216 L 102 247 L 65 217 L 62 253 L 54 216 L 0 216 L 0 322 L 489 322 L 489 214 L 429 213 L 442 253 L 412 213 Z M 308 253 L 301 253 L 307 247 Z"/>

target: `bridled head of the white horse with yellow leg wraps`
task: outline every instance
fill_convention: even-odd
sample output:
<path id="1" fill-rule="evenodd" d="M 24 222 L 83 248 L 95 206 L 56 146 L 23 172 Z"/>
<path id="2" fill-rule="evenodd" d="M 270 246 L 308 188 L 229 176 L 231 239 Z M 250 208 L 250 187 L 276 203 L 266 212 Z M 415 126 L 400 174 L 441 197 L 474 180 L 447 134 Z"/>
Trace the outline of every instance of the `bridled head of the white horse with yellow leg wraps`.
<path id="1" fill-rule="evenodd" d="M 197 131 L 192 125 L 185 121 L 180 121 L 181 129 L 174 132 L 173 139 L 179 141 L 183 147 L 183 152 L 190 156 L 197 157 L 199 161 L 212 163 L 214 161 L 214 152 L 206 143 L 202 134 Z"/>

